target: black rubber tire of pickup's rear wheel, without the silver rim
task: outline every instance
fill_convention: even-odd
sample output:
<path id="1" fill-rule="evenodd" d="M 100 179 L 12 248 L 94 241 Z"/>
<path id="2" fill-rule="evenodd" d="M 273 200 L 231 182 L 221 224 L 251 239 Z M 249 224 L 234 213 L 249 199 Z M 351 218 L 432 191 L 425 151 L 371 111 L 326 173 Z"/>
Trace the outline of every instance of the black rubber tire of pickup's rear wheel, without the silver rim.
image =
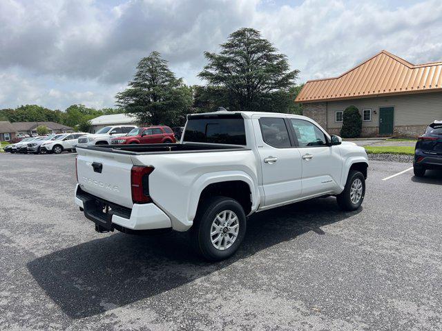
<path id="1" fill-rule="evenodd" d="M 215 248 L 215 243 L 212 243 L 211 228 L 212 223 L 218 214 L 222 212 L 233 212 L 238 218 L 238 233 L 236 239 L 231 243 L 230 247 L 225 249 Z M 225 217 L 225 216 L 224 216 Z M 224 239 L 220 237 L 221 244 L 229 240 L 225 239 L 232 237 L 230 232 L 226 232 L 229 227 L 224 225 L 224 228 L 220 229 L 219 236 L 226 236 Z M 236 250 L 240 247 L 242 240 L 244 239 L 247 228 L 246 216 L 244 210 L 238 201 L 228 197 L 213 197 L 207 199 L 200 205 L 196 214 L 193 226 L 191 228 L 191 240 L 195 247 L 195 250 L 209 261 L 221 261 L 231 257 Z M 218 232 L 217 232 L 218 233 Z M 216 239 L 216 237 L 215 237 Z"/>

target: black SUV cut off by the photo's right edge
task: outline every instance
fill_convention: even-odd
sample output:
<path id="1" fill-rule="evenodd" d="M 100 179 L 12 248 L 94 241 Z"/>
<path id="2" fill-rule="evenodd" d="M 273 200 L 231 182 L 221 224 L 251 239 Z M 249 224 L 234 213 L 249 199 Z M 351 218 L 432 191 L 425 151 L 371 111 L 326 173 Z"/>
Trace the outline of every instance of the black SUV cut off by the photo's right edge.
<path id="1" fill-rule="evenodd" d="M 431 123 L 418 138 L 413 168 L 418 177 L 423 177 L 427 169 L 442 169 L 442 121 Z"/>

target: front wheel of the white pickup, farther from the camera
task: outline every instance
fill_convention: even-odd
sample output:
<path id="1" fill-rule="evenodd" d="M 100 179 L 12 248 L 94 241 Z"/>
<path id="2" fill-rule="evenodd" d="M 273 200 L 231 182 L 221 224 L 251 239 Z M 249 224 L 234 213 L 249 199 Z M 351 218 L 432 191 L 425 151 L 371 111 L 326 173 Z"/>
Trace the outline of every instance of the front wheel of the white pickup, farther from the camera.
<path id="1" fill-rule="evenodd" d="M 360 171 L 350 170 L 347 183 L 342 193 L 336 196 L 336 201 L 342 210 L 357 210 L 365 197 L 365 177 Z"/>

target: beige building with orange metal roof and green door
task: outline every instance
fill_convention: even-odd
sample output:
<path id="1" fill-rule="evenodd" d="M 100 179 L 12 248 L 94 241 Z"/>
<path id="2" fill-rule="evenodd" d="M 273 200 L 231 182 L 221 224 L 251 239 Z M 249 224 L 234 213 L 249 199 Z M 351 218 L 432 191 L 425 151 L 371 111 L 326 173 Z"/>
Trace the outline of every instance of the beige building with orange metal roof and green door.
<path id="1" fill-rule="evenodd" d="M 383 50 L 338 77 L 307 81 L 295 102 L 334 134 L 356 106 L 363 136 L 416 137 L 442 119 L 442 61 L 415 65 Z"/>

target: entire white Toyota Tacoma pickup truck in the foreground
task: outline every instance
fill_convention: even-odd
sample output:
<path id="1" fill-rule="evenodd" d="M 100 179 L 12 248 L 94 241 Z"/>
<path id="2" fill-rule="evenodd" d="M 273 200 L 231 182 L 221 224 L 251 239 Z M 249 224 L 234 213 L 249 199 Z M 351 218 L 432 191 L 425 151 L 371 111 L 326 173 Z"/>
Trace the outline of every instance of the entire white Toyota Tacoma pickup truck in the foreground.
<path id="1" fill-rule="evenodd" d="M 75 203 L 95 230 L 190 230 L 212 261 L 236 252 L 254 212 L 327 195 L 358 209 L 368 168 L 364 148 L 269 112 L 191 114 L 180 143 L 77 153 Z"/>

